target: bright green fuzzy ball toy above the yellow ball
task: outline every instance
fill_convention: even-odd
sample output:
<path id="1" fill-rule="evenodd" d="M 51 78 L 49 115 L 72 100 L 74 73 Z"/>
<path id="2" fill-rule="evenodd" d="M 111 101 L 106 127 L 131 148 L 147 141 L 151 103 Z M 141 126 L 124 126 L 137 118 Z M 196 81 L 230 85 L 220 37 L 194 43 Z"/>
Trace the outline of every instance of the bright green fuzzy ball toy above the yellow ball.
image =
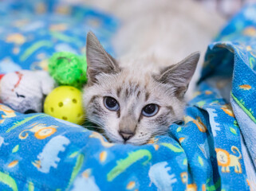
<path id="1" fill-rule="evenodd" d="M 59 85 L 81 89 L 86 83 L 86 58 L 74 53 L 54 53 L 49 59 L 49 74 Z"/>

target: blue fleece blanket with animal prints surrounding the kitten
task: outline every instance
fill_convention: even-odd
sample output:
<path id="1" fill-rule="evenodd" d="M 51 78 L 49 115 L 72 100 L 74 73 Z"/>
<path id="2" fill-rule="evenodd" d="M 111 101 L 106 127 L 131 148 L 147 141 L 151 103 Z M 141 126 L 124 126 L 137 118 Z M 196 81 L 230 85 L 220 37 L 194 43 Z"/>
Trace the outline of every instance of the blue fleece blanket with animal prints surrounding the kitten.
<path id="1" fill-rule="evenodd" d="M 45 57 L 59 50 L 56 48 L 59 44 L 62 44 L 61 50 L 69 47 L 69 50 L 71 48 L 76 53 L 81 53 L 79 51 L 85 45 L 86 29 L 90 27 L 94 27 L 94 32 L 101 37 L 100 41 L 108 46 L 117 26 L 114 18 L 89 9 L 79 12 L 78 17 L 71 14 L 75 7 L 57 8 L 57 4 L 45 2 L 31 4 L 26 9 L 24 5 L 17 3 L 15 6 L 9 3 L 5 5 L 11 7 L 7 12 L 22 9 L 33 21 L 37 21 L 36 17 L 39 20 L 42 17 L 44 19 L 40 21 L 47 21 L 49 26 L 52 14 L 56 14 L 57 10 L 61 10 L 61 14 L 65 13 L 64 20 L 77 22 L 70 20 L 69 24 L 73 27 L 63 27 L 63 30 L 61 23 L 69 24 L 61 20 L 61 15 L 56 20 L 58 24 L 55 23 L 57 28 L 50 27 L 42 33 L 40 30 L 45 31 L 45 27 L 37 28 L 34 30 L 36 33 L 22 30 L 37 26 L 31 24 L 28 27 L 33 23 L 29 18 L 25 21 L 26 24 L 16 18 L 18 22 L 12 23 L 20 24 L 14 28 L 7 24 L 9 27 L 6 27 L 6 31 L 21 34 L 26 40 L 19 38 L 19 35 L 18 38 L 4 38 L 9 32 L 4 32 L 2 23 L 1 47 L 4 49 L 0 51 L 1 58 L 2 61 L 12 60 L 11 64 L 2 64 L 2 72 L 14 70 L 17 66 L 37 68 L 34 67 L 36 65 L 44 68 L 44 64 L 33 63 L 44 62 Z M 43 5 L 41 7 L 45 9 L 48 7 L 49 10 L 31 18 L 30 12 L 38 5 Z M 18 11 L 20 13 L 21 10 Z M 9 19 L 8 13 L 3 15 Z M 0 189 L 255 189 L 255 163 L 251 160 L 256 157 L 255 18 L 256 5 L 248 6 L 226 25 L 216 41 L 208 47 L 199 91 L 187 105 L 184 123 L 171 125 L 168 134 L 153 138 L 146 145 L 113 144 L 101 134 L 73 123 L 41 113 L 22 115 L 10 107 L 0 105 Z M 81 27 L 81 23 L 85 28 Z M 26 27 L 22 28 L 24 25 Z M 57 36 L 49 34 L 51 29 L 59 30 Z M 43 35 L 37 37 L 37 33 Z M 35 36 L 30 38 L 30 35 Z M 70 37 L 83 38 L 83 43 L 76 44 L 78 40 L 70 40 Z M 24 40 L 23 43 L 21 39 Z M 40 45 L 37 41 L 51 41 L 52 44 Z M 110 47 L 109 50 L 111 51 Z M 231 93 L 228 90 L 230 83 Z M 233 110 L 228 104 L 229 97 Z"/>

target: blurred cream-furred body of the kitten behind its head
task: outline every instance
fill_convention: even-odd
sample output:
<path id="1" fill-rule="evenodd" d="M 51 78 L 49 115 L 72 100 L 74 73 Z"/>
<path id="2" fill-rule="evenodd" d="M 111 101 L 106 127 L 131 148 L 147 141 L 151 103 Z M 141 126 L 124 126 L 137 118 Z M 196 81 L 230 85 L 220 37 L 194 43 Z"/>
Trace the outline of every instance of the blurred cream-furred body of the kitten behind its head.
<path id="1" fill-rule="evenodd" d="M 65 0 L 70 2 L 68 0 Z M 192 98 L 199 79 L 207 45 L 223 26 L 224 19 L 191 0 L 74 0 L 120 18 L 121 27 L 113 38 L 117 57 L 152 55 L 158 65 L 175 64 L 190 53 L 201 58 L 187 91 Z M 144 64 L 147 67 L 147 63 Z"/>

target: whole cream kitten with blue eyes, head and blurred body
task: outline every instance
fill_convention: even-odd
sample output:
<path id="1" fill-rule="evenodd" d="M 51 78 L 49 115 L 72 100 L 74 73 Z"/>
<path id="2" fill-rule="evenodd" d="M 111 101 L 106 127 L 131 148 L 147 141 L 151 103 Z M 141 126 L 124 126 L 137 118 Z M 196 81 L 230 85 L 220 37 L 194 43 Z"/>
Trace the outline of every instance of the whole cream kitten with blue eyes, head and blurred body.
<path id="1" fill-rule="evenodd" d="M 189 0 L 99 1 L 86 2 L 112 12 L 122 25 L 112 41 L 117 60 L 88 34 L 87 117 L 108 140 L 141 145 L 182 120 L 199 61 L 193 52 L 205 52 L 223 19 Z"/>

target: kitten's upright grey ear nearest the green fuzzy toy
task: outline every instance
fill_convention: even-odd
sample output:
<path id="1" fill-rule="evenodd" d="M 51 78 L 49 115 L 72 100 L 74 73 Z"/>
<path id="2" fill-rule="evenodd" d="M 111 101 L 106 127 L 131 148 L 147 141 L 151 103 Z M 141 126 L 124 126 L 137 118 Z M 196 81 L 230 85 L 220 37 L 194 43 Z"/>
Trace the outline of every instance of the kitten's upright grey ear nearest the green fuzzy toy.
<path id="1" fill-rule="evenodd" d="M 88 84 L 97 82 L 96 76 L 107 73 L 115 74 L 120 72 L 116 60 L 108 54 L 93 32 L 89 32 L 86 38 L 86 59 Z"/>

